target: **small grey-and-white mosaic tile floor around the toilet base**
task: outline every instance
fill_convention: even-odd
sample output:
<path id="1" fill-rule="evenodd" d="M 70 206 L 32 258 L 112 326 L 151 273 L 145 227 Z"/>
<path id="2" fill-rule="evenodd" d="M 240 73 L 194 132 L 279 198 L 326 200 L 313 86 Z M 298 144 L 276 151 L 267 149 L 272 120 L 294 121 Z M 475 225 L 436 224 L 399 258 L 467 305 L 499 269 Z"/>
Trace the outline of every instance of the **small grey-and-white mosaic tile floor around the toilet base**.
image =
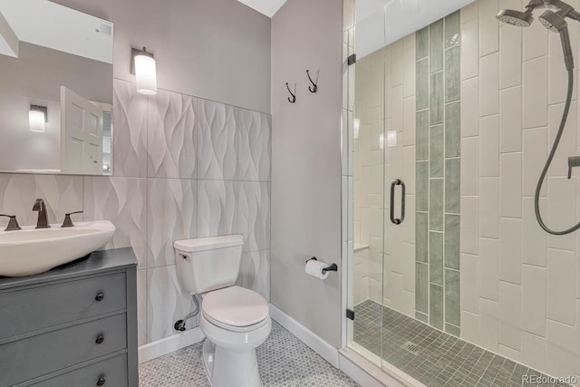
<path id="1" fill-rule="evenodd" d="M 197 343 L 140 364 L 140 387 L 209 386 L 201 347 Z M 257 363 L 265 386 L 358 386 L 274 321 L 270 337 L 257 348 Z"/>

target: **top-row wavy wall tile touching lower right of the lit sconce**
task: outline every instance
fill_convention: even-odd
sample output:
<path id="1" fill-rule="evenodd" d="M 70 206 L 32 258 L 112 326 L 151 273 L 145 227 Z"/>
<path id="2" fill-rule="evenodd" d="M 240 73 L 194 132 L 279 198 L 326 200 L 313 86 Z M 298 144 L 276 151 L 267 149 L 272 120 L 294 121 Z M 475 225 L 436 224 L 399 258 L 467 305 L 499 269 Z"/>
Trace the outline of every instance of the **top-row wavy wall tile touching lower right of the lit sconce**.
<path id="1" fill-rule="evenodd" d="M 150 178 L 196 179 L 198 99 L 160 90 L 150 98 L 147 169 Z"/>

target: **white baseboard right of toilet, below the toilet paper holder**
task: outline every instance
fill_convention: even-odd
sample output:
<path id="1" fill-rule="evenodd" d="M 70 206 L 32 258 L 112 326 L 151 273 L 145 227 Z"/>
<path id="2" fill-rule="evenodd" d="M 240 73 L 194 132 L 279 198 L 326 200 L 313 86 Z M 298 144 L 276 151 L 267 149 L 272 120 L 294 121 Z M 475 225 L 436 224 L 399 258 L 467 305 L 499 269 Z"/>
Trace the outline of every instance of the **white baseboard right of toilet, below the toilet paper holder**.
<path id="1" fill-rule="evenodd" d="M 280 309 L 270 304 L 270 316 L 285 329 L 294 334 L 301 342 L 308 345 L 315 353 L 321 355 L 328 363 L 339 368 L 338 350 L 333 345 L 326 343 L 320 336 L 314 334 L 303 324 L 298 323 L 294 318 L 285 314 Z"/>

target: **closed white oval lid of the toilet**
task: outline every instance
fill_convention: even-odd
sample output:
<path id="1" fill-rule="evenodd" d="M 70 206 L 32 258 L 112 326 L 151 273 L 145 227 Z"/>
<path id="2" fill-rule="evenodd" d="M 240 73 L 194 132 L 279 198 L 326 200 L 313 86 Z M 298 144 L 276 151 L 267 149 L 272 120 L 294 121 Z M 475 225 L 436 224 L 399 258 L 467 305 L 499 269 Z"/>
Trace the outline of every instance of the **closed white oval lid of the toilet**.
<path id="1" fill-rule="evenodd" d="M 264 297 L 240 286 L 209 292 L 201 309 L 211 320 L 237 327 L 258 324 L 268 316 Z"/>

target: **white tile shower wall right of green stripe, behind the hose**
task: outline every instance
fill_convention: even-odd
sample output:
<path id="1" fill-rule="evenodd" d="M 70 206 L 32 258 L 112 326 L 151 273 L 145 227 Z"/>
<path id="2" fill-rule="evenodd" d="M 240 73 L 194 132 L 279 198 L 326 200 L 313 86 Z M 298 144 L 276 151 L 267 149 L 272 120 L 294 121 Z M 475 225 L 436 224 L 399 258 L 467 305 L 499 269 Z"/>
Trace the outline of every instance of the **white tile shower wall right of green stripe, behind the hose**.
<path id="1" fill-rule="evenodd" d="M 533 198 L 563 109 L 565 68 L 556 34 L 493 17 L 498 6 L 522 5 L 478 0 L 461 11 L 461 336 L 542 372 L 574 375 L 580 238 L 549 236 Z M 570 32 L 577 58 L 580 32 Z M 574 101 L 541 190 L 540 212 L 556 229 L 580 217 L 577 171 L 566 179 L 567 157 L 580 150 L 578 114 Z"/>

